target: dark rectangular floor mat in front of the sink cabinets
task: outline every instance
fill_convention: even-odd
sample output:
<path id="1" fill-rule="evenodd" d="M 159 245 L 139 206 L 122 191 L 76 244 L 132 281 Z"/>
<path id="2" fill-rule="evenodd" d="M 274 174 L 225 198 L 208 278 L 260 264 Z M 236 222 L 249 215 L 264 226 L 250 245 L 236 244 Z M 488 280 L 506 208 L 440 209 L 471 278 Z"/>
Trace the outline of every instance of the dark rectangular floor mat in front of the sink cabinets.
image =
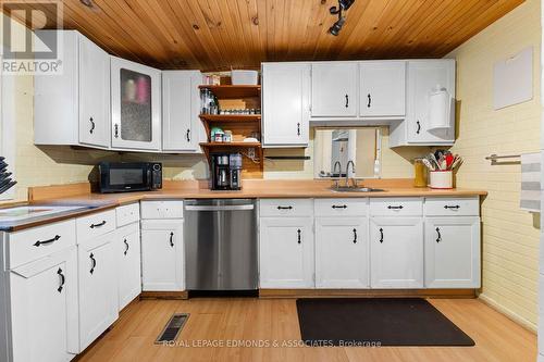
<path id="1" fill-rule="evenodd" d="M 297 311 L 309 346 L 475 345 L 421 298 L 308 298 Z"/>

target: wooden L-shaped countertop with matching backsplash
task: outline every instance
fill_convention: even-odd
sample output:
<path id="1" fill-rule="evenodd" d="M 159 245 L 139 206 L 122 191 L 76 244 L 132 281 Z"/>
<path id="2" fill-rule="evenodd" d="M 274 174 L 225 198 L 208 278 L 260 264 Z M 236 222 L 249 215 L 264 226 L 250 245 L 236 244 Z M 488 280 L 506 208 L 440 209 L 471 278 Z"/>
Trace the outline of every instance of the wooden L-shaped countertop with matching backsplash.
<path id="1" fill-rule="evenodd" d="M 138 202 L 140 200 L 168 199 L 275 199 L 275 198 L 380 198 L 380 197 L 470 197 L 485 196 L 484 190 L 455 188 L 438 190 L 431 188 L 416 188 L 412 180 L 399 179 L 368 179 L 359 186 L 381 188 L 379 192 L 335 192 L 331 190 L 331 180 L 244 180 L 239 191 L 212 191 L 207 182 L 183 180 L 163 183 L 163 189 L 144 192 L 96 194 L 90 191 L 88 183 L 33 187 L 28 190 L 28 200 L 32 204 L 81 204 L 91 205 L 79 212 L 69 212 L 28 222 L 5 224 L 0 229 L 16 232 L 28 227 L 39 226 L 61 220 L 83 216 L 85 214 L 108 210 L 118 205 Z M 21 203 L 18 203 L 21 204 Z M 3 205 L 9 207 L 9 205 Z"/>

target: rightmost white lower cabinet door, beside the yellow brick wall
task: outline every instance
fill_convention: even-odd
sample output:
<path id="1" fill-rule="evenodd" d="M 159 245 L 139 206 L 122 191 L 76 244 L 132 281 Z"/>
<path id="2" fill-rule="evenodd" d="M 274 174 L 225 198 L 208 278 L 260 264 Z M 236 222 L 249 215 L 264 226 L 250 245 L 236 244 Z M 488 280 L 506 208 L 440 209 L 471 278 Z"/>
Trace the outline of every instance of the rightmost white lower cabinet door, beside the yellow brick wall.
<path id="1" fill-rule="evenodd" d="M 480 288 L 480 217 L 426 217 L 424 249 L 426 288 Z"/>

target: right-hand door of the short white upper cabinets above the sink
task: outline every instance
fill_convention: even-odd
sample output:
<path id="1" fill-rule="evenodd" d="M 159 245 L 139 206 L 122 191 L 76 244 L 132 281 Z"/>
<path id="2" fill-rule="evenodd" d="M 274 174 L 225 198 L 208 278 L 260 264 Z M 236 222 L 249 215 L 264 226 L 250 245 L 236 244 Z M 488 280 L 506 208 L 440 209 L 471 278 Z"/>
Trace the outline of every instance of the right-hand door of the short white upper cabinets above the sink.
<path id="1" fill-rule="evenodd" d="M 360 116 L 403 118 L 406 114 L 406 62 L 364 61 L 360 67 Z"/>

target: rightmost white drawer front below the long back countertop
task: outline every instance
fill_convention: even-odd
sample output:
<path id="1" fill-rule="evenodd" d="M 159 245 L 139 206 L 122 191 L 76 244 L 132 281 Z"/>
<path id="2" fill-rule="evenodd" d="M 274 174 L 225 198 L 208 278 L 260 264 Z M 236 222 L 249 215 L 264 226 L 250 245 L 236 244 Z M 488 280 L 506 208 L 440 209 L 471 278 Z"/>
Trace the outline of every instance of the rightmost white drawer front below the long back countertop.
<path id="1" fill-rule="evenodd" d="M 425 199 L 428 216 L 478 216 L 480 200 L 478 198 L 428 198 Z"/>

